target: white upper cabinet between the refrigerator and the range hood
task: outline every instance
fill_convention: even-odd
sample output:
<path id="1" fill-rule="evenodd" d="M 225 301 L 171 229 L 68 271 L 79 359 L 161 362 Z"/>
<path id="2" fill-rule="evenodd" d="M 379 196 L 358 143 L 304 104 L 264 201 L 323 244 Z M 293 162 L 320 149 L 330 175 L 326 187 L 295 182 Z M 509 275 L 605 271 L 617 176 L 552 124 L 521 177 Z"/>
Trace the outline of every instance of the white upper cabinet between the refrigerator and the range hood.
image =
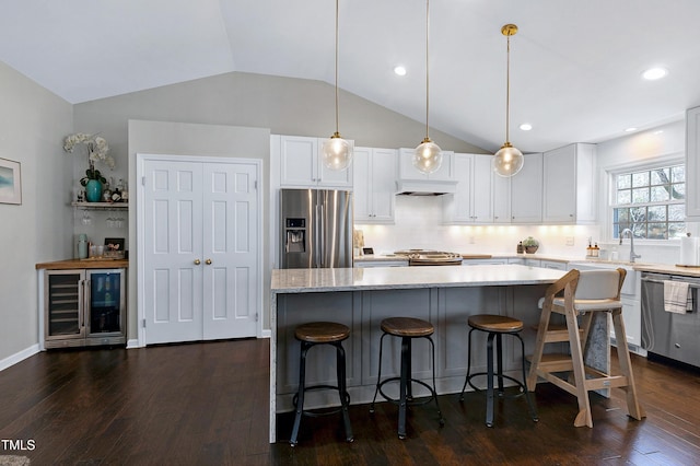
<path id="1" fill-rule="evenodd" d="M 354 148 L 354 222 L 394 223 L 396 149 Z"/>

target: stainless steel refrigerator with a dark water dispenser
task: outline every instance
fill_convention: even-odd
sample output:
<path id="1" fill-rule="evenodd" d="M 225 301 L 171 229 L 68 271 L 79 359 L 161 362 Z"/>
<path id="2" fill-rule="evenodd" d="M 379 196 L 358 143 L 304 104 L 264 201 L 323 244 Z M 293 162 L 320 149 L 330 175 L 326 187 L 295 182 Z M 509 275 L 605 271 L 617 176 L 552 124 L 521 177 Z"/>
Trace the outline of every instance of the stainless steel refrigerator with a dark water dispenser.
<path id="1" fill-rule="evenodd" d="M 280 189 L 280 267 L 352 267 L 352 191 Z"/>

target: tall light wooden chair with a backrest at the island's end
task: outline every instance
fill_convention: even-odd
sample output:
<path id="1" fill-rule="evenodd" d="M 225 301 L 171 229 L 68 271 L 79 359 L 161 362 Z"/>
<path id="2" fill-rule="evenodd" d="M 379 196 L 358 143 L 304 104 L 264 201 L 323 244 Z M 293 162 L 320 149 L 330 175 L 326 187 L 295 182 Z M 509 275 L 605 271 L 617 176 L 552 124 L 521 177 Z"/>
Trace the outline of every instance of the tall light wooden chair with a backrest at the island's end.
<path id="1" fill-rule="evenodd" d="M 551 284 L 545 293 L 535 352 L 529 358 L 530 369 L 527 387 L 534 392 L 539 376 L 575 395 L 579 400 L 579 413 L 574 420 L 575 427 L 593 427 L 588 392 L 603 388 L 620 387 L 625 389 L 629 416 L 638 420 L 645 417 L 637 398 L 632 363 L 627 348 L 627 336 L 622 321 L 620 289 L 626 275 L 627 271 L 621 268 L 616 270 L 571 270 Z M 596 312 L 607 312 L 612 316 L 621 374 L 607 374 L 584 363 L 584 349 Z M 565 326 L 550 322 L 552 314 L 563 315 Z M 569 342 L 569 354 L 544 352 L 545 345 L 565 341 Z"/>

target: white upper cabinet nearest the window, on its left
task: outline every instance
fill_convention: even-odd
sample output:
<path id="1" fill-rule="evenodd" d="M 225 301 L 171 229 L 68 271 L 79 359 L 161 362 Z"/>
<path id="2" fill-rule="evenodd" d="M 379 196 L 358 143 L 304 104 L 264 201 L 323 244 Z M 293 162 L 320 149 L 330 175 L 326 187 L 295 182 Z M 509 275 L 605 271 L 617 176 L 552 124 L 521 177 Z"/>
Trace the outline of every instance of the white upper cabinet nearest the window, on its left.
<path id="1" fill-rule="evenodd" d="M 570 144 L 544 155 L 544 223 L 596 221 L 595 144 Z"/>

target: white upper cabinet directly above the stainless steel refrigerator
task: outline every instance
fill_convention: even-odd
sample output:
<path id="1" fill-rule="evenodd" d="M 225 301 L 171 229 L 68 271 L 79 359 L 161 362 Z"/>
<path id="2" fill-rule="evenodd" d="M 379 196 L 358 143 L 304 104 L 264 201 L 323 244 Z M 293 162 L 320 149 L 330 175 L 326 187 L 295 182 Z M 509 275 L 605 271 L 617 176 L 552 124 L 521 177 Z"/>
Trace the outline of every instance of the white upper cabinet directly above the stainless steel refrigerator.
<path id="1" fill-rule="evenodd" d="M 283 188 L 352 188 L 352 168 L 329 170 L 323 163 L 324 138 L 271 136 L 271 156 L 279 161 L 279 185 Z"/>

